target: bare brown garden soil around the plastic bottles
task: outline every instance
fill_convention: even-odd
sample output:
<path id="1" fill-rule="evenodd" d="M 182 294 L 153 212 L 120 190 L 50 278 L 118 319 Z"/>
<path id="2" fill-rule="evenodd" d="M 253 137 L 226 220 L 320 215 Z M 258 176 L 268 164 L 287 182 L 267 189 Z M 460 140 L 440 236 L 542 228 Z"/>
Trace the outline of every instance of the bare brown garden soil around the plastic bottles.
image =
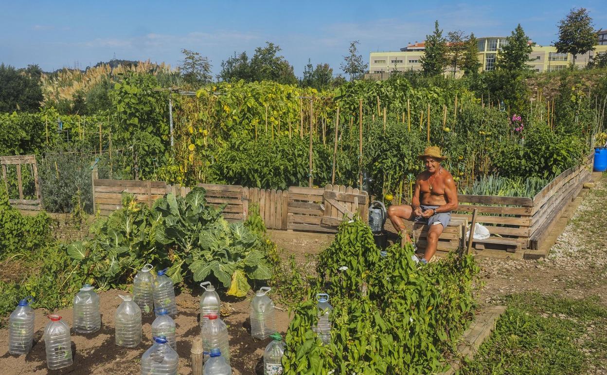
<path id="1" fill-rule="evenodd" d="M 140 359 L 152 345 L 152 321 L 154 317 L 143 318 L 143 340 L 137 348 L 123 348 L 115 345 L 114 312 L 121 303 L 118 294 L 123 291 L 100 293 L 101 329 L 93 334 L 78 334 L 72 331 L 72 353 L 74 363 L 61 370 L 48 370 L 42 332 L 49 319 L 48 311 L 36 310 L 34 346 L 26 356 L 13 356 L 7 352 L 8 331 L 0 330 L 0 373 L 17 374 L 120 374 L 140 373 Z M 263 374 L 263 349 L 271 339 L 256 340 L 251 337 L 249 304 L 253 295 L 246 298 L 222 302 L 222 318 L 228 325 L 231 365 L 234 375 Z M 179 354 L 179 374 L 191 374 L 190 349 L 198 325 L 199 295 L 183 292 L 177 296 L 179 313 L 175 318 L 177 326 L 177 353 Z M 72 326 L 72 309 L 56 311 Z M 229 314 L 229 315 L 228 315 Z M 277 329 L 284 335 L 288 327 L 287 312 L 276 309 Z"/>

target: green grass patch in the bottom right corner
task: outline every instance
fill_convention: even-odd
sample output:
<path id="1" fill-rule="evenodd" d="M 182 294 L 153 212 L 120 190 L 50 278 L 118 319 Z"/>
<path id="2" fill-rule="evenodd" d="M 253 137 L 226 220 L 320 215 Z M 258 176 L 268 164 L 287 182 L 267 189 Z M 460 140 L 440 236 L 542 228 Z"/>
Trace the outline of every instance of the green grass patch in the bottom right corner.
<path id="1" fill-rule="evenodd" d="M 597 298 L 509 297 L 495 331 L 459 375 L 594 374 L 607 369 L 607 308 Z"/>

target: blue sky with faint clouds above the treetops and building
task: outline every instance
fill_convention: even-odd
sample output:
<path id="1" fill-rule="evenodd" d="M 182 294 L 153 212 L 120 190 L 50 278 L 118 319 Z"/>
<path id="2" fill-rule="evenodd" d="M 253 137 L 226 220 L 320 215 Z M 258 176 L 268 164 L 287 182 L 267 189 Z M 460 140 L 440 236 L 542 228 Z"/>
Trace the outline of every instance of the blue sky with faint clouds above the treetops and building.
<path id="1" fill-rule="evenodd" d="M 538 44 L 556 39 L 572 7 L 607 29 L 605 0 L 535 1 L 8 1 L 0 0 L 0 62 L 36 63 L 45 71 L 114 57 L 176 66 L 182 48 L 211 59 L 213 71 L 235 51 L 253 55 L 271 41 L 302 75 L 313 64 L 339 63 L 352 40 L 359 52 L 398 50 L 422 41 L 435 19 L 444 32 L 509 35 L 520 22 Z"/>

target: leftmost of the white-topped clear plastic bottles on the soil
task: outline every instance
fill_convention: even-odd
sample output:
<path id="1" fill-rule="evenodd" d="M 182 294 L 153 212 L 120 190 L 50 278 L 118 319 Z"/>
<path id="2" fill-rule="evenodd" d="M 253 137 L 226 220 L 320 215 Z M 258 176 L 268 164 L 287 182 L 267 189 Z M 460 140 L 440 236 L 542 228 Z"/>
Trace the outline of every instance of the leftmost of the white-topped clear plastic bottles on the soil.
<path id="1" fill-rule="evenodd" d="M 123 301 L 116 309 L 116 345 L 134 348 L 141 342 L 141 309 L 130 295 L 119 295 Z"/>

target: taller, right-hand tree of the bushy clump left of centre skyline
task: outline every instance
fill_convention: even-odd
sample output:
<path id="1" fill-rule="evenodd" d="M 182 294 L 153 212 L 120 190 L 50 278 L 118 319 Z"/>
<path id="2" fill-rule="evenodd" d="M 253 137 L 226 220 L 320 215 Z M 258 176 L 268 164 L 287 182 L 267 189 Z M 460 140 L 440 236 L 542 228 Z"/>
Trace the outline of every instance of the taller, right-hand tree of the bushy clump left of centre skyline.
<path id="1" fill-rule="evenodd" d="M 265 47 L 257 47 L 251 58 L 251 72 L 256 81 L 275 81 L 283 84 L 296 84 L 297 77 L 293 66 L 277 55 L 282 50 L 277 44 L 266 42 Z"/>

